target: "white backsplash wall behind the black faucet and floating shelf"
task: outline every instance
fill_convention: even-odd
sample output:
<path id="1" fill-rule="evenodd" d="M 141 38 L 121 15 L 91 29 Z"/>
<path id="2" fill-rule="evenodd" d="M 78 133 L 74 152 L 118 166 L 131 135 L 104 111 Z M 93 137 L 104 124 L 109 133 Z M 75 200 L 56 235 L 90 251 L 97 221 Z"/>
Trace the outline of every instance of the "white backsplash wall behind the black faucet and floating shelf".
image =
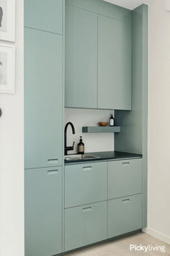
<path id="1" fill-rule="evenodd" d="M 71 128 L 68 129 L 67 145 L 71 146 L 75 141 L 74 150 L 68 151 L 68 154 L 77 153 L 80 136 L 83 137 L 85 152 L 112 151 L 114 149 L 114 135 L 112 133 L 82 134 L 82 127 L 97 126 L 99 121 L 109 121 L 109 114 L 113 114 L 113 111 L 65 108 L 65 123 L 71 121 L 76 130 L 76 134 L 72 135 Z"/>

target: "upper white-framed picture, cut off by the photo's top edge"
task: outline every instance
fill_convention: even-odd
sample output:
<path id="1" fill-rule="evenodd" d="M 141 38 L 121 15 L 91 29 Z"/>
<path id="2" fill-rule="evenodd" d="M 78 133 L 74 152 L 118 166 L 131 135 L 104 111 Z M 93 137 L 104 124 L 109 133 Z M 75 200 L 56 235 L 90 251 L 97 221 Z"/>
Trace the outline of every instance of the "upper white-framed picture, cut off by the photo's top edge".
<path id="1" fill-rule="evenodd" d="M 15 40 L 15 0 L 0 0 L 0 40 Z"/>

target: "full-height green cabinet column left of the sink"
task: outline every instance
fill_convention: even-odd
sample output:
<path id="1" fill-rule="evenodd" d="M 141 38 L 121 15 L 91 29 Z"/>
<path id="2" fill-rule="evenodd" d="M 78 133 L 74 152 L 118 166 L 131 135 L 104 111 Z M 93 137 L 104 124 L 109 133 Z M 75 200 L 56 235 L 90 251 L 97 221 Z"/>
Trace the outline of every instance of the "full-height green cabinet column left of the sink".
<path id="1" fill-rule="evenodd" d="M 25 256 L 62 252 L 63 0 L 24 0 Z"/>

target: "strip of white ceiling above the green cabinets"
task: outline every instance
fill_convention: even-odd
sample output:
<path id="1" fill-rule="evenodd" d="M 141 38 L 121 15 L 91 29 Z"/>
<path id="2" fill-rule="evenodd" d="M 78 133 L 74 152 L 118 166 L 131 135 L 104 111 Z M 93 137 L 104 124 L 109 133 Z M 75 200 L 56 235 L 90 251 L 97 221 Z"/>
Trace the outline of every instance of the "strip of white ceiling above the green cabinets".
<path id="1" fill-rule="evenodd" d="M 121 7 L 125 7 L 128 9 L 134 9 L 138 7 L 140 4 L 149 4 L 150 1 L 153 0 L 104 0 L 109 1 L 109 3 L 120 5 Z"/>

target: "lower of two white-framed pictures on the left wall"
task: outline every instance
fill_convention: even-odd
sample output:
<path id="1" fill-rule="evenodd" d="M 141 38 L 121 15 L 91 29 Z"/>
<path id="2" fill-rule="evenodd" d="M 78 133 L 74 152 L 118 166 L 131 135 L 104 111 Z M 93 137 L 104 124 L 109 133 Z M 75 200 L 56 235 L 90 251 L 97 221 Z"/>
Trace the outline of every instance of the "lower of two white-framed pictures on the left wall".
<path id="1" fill-rule="evenodd" d="M 0 93 L 15 92 L 15 47 L 0 43 Z"/>

